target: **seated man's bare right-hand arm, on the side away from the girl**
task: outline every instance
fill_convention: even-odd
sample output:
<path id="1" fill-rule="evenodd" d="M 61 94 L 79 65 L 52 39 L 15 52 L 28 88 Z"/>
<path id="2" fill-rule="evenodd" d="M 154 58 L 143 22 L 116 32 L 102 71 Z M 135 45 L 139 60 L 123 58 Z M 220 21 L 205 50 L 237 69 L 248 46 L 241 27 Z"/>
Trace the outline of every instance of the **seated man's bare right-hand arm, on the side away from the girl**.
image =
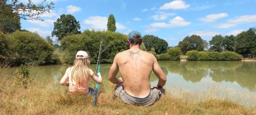
<path id="1" fill-rule="evenodd" d="M 166 76 L 163 73 L 162 68 L 159 66 L 155 56 L 153 56 L 153 60 L 154 60 L 153 72 L 155 73 L 155 75 L 159 79 L 157 87 L 163 87 L 165 85 L 165 82 L 166 82 Z"/>

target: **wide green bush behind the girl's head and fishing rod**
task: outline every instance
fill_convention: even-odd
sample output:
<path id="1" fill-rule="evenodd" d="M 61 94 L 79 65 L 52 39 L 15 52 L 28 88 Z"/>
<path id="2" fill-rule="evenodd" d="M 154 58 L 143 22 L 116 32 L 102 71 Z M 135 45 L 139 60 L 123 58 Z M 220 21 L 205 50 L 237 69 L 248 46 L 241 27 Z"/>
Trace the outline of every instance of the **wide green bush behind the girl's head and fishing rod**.
<path id="1" fill-rule="evenodd" d="M 113 61 L 118 52 L 124 51 L 127 48 L 127 36 L 121 33 L 112 31 L 90 31 L 86 30 L 81 34 L 69 35 L 61 39 L 61 47 L 65 52 L 64 61 L 72 64 L 76 52 L 79 50 L 86 51 L 91 63 L 96 63 L 100 41 L 102 41 L 101 62 L 110 63 Z"/>

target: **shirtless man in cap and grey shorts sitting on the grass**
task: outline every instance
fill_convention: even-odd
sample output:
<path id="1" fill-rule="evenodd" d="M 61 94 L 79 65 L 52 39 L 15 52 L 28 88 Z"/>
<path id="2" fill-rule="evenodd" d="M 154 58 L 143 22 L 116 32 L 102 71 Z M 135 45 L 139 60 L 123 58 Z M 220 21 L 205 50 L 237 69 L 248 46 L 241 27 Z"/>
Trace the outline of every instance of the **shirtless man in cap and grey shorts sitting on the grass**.
<path id="1" fill-rule="evenodd" d="M 164 95 L 165 74 L 153 54 L 140 50 L 142 36 L 138 31 L 129 33 L 127 43 L 130 49 L 115 56 L 108 75 L 109 80 L 117 84 L 115 96 L 136 106 L 153 105 Z M 118 71 L 119 79 L 116 77 Z M 154 88 L 150 84 L 152 71 L 159 79 Z"/>

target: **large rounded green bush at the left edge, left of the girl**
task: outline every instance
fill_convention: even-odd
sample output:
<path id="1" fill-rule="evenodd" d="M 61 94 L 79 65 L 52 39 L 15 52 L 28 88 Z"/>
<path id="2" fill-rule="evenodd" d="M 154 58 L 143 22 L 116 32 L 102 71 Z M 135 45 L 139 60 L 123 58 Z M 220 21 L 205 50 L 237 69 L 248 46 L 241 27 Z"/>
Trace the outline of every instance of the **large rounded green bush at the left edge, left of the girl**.
<path id="1" fill-rule="evenodd" d="M 0 33 L 1 54 L 10 58 L 12 64 L 45 65 L 57 64 L 58 56 L 53 55 L 54 48 L 36 33 L 16 31 L 10 35 Z"/>

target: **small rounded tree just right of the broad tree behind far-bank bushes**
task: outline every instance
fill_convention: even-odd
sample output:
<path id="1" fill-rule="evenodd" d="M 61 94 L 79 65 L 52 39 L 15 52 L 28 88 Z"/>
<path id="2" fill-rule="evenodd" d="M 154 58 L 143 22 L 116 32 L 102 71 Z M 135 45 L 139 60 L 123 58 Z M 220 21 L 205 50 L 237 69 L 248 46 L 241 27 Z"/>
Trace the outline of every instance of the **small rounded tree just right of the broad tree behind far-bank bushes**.
<path id="1" fill-rule="evenodd" d="M 214 37 L 212 37 L 212 39 L 209 41 L 211 45 L 210 50 L 216 51 L 216 52 L 222 52 L 223 40 L 224 40 L 224 37 L 222 37 L 221 35 L 215 35 Z"/>

